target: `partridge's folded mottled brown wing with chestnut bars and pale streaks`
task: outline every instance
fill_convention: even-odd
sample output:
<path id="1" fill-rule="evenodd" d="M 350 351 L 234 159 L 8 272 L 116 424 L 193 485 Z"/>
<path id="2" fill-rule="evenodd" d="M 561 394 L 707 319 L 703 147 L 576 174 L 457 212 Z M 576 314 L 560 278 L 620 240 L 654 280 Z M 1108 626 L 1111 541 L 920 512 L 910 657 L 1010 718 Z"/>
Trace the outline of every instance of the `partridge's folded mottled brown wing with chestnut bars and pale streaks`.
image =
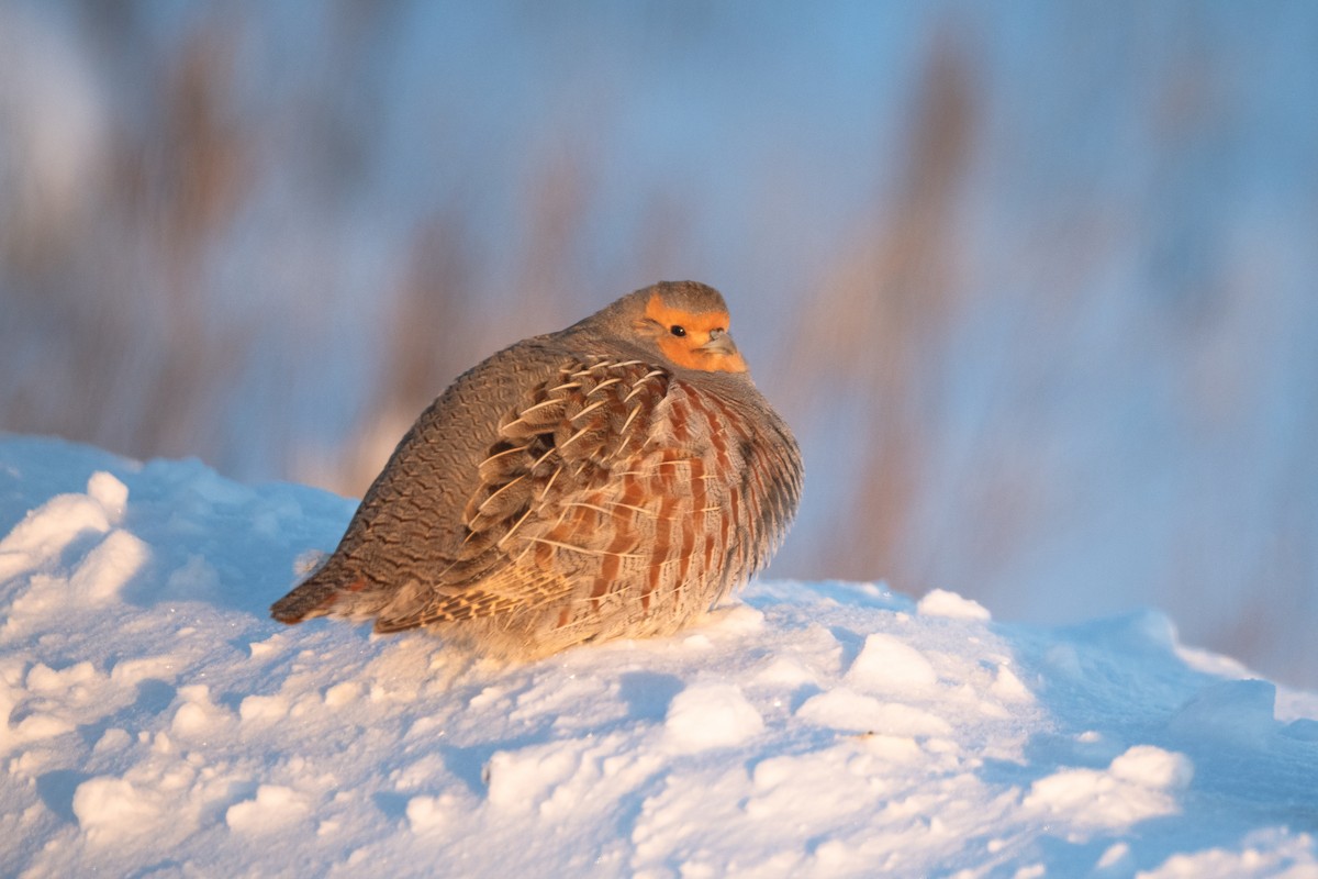
<path id="1" fill-rule="evenodd" d="M 564 368 L 480 464 L 460 557 L 377 627 L 539 613 L 583 639 L 676 629 L 760 561 L 739 422 L 641 361 Z"/>

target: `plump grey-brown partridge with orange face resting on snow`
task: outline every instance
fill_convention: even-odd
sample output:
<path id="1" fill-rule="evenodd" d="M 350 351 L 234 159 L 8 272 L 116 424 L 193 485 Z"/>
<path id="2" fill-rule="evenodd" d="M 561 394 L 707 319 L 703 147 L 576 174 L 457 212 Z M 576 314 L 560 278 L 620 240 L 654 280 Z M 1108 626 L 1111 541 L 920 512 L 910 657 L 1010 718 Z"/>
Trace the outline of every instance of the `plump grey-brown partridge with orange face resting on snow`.
<path id="1" fill-rule="evenodd" d="M 803 480 L 722 294 L 659 282 L 459 376 L 270 613 L 503 660 L 671 635 L 763 569 Z"/>

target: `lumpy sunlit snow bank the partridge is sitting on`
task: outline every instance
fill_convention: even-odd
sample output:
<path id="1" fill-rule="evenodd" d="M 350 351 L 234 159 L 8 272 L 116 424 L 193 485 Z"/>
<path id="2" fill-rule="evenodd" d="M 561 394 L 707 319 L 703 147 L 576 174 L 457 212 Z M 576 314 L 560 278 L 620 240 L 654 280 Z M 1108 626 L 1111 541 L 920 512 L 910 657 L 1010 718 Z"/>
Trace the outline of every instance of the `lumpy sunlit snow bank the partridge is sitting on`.
<path id="1" fill-rule="evenodd" d="M 272 622 L 352 510 L 0 438 L 0 875 L 1318 875 L 1318 696 L 1157 611 L 757 582 L 530 666 Z"/>

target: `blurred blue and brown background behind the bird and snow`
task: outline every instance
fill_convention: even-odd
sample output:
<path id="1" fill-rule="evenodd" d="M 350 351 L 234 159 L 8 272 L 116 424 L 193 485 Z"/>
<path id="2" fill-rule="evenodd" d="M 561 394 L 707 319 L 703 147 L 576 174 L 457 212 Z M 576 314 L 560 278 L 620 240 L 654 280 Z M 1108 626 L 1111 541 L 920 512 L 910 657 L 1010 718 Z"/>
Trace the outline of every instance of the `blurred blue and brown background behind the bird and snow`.
<path id="1" fill-rule="evenodd" d="M 1318 4 L 0 1 L 0 430 L 360 496 L 720 287 L 772 577 L 1165 609 L 1318 685 Z"/>

